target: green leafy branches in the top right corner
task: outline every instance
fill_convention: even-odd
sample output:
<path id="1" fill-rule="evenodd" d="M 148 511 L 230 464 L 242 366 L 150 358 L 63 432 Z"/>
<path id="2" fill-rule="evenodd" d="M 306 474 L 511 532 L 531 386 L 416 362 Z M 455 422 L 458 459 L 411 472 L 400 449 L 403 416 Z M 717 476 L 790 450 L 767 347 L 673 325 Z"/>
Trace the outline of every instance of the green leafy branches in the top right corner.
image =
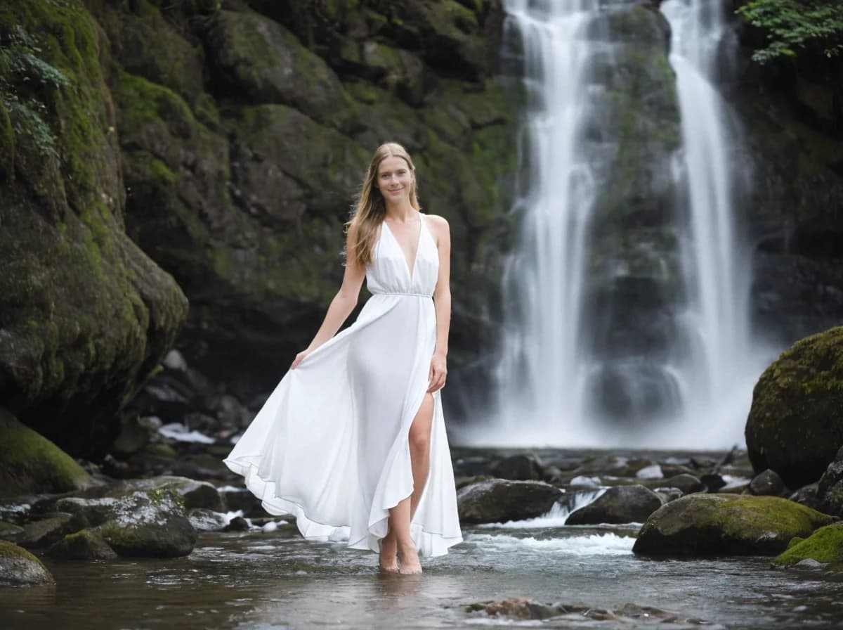
<path id="1" fill-rule="evenodd" d="M 756 62 L 796 57 L 808 46 L 821 47 L 826 57 L 843 51 L 840 0 L 749 0 L 737 13 L 767 31 L 769 44 L 754 52 Z"/>

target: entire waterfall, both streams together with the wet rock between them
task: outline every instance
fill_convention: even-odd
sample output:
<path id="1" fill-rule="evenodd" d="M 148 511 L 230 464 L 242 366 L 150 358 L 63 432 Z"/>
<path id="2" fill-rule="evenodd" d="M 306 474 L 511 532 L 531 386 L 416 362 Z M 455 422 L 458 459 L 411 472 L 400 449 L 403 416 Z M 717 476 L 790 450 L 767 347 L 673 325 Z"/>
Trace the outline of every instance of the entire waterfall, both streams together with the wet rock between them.
<path id="1" fill-rule="evenodd" d="M 464 443 L 741 441 L 761 363 L 714 87 L 721 4 L 663 3 L 668 66 L 664 20 L 632 0 L 505 3 L 528 100 L 520 240 L 497 416 Z"/>

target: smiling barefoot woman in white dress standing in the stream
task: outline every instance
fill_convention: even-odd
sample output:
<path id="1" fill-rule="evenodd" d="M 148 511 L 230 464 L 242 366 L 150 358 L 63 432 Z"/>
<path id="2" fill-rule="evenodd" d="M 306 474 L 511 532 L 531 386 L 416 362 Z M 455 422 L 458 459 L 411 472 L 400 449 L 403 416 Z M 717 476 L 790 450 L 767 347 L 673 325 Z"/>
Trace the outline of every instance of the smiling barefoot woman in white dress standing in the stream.
<path id="1" fill-rule="evenodd" d="M 405 149 L 381 145 L 348 223 L 342 286 L 225 460 L 303 536 L 347 533 L 390 573 L 421 573 L 419 552 L 462 541 L 439 396 L 449 272 L 448 222 L 420 212 Z M 337 335 L 363 277 L 373 296 Z"/>

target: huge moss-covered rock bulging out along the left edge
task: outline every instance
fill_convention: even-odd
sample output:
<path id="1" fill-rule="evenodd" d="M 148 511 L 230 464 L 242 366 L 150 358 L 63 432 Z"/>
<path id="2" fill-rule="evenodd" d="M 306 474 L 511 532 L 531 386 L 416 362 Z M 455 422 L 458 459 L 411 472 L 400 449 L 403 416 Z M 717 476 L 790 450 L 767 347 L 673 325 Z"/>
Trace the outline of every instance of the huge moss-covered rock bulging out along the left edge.
<path id="1" fill-rule="evenodd" d="M 0 401 L 95 455 L 187 301 L 124 231 L 99 25 L 79 0 L 8 0 L 0 41 Z"/>

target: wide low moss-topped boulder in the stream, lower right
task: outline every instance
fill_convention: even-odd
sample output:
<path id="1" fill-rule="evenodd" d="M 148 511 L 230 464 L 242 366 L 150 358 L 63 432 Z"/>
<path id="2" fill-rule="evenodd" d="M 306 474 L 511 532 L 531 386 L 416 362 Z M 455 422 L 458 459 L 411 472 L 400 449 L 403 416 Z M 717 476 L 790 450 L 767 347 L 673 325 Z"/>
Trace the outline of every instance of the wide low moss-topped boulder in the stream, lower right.
<path id="1" fill-rule="evenodd" d="M 651 514 L 632 551 L 643 556 L 773 556 L 835 519 L 778 497 L 695 494 Z"/>

